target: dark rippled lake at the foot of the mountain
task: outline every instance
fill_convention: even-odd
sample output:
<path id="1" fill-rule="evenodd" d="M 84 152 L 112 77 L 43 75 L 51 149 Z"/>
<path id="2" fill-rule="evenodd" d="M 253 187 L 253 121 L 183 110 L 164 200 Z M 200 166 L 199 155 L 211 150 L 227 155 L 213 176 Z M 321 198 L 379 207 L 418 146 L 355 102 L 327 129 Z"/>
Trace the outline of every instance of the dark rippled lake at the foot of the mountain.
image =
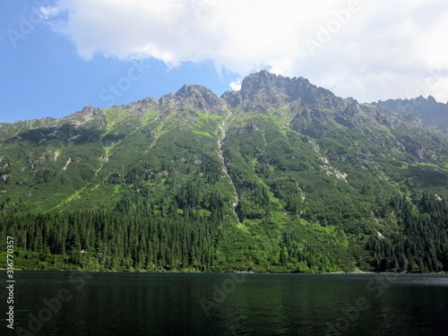
<path id="1" fill-rule="evenodd" d="M 1 335 L 446 335 L 446 274 L 16 271 Z M 6 271 L 0 301 L 8 313 Z"/>

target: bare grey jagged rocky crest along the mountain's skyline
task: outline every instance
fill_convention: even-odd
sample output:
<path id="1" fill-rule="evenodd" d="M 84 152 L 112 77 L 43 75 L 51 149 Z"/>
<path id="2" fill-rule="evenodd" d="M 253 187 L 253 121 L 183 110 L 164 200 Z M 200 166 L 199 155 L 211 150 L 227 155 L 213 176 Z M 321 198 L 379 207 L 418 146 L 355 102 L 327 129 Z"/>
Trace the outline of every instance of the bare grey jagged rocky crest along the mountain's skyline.
<path id="1" fill-rule="evenodd" d="M 256 101 L 256 104 L 254 101 Z M 176 92 L 168 93 L 159 99 L 147 97 L 129 104 L 109 108 L 124 108 L 127 111 L 144 108 L 197 108 L 222 114 L 226 108 L 241 108 L 246 112 L 266 112 L 269 108 L 295 108 L 294 103 L 298 101 L 302 102 L 304 106 L 329 110 L 342 110 L 347 108 L 350 102 L 354 102 L 360 106 L 377 107 L 381 111 L 413 115 L 426 125 L 442 127 L 442 129 L 448 127 L 448 121 L 446 121 L 448 120 L 448 102 L 445 104 L 437 102 L 432 96 L 428 96 L 427 99 L 419 96 L 416 99 L 387 99 L 370 104 L 359 104 L 356 99 L 342 99 L 334 95 L 332 91 L 317 87 L 303 77 L 289 78 L 269 73 L 266 70 L 248 75 L 242 81 L 240 90 L 226 91 L 220 97 L 202 85 L 185 84 Z M 100 110 L 103 109 L 86 106 L 81 111 L 60 118 L 44 117 L 16 123 L 0 123 L 0 125 L 18 123 L 30 125 L 33 122 L 45 125 L 48 121 L 64 120 L 76 114 L 98 113 Z M 428 116 L 428 111 L 432 112 L 433 115 Z M 442 118 L 442 120 L 438 118 Z"/>

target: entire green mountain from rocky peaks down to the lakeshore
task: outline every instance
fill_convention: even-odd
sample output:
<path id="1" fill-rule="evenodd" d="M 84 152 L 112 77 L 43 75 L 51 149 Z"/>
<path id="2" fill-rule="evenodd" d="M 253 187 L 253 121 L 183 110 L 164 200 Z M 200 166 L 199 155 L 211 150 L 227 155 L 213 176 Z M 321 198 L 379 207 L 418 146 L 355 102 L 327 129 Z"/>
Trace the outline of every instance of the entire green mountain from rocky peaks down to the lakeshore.
<path id="1" fill-rule="evenodd" d="M 1 124 L 0 248 L 30 269 L 448 271 L 447 116 L 262 71 Z"/>

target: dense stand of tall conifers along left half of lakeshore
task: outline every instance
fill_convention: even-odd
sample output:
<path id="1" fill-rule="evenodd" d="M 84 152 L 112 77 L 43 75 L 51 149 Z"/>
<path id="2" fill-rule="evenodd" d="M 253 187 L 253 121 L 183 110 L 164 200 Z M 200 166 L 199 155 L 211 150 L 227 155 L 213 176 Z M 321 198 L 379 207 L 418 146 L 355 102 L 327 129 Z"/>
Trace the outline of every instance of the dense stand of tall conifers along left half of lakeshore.
<path id="1" fill-rule="evenodd" d="M 2 250 L 6 236 L 42 261 L 65 255 L 76 268 L 207 271 L 215 260 L 220 226 L 197 213 L 193 218 L 143 211 L 2 213 Z"/>

